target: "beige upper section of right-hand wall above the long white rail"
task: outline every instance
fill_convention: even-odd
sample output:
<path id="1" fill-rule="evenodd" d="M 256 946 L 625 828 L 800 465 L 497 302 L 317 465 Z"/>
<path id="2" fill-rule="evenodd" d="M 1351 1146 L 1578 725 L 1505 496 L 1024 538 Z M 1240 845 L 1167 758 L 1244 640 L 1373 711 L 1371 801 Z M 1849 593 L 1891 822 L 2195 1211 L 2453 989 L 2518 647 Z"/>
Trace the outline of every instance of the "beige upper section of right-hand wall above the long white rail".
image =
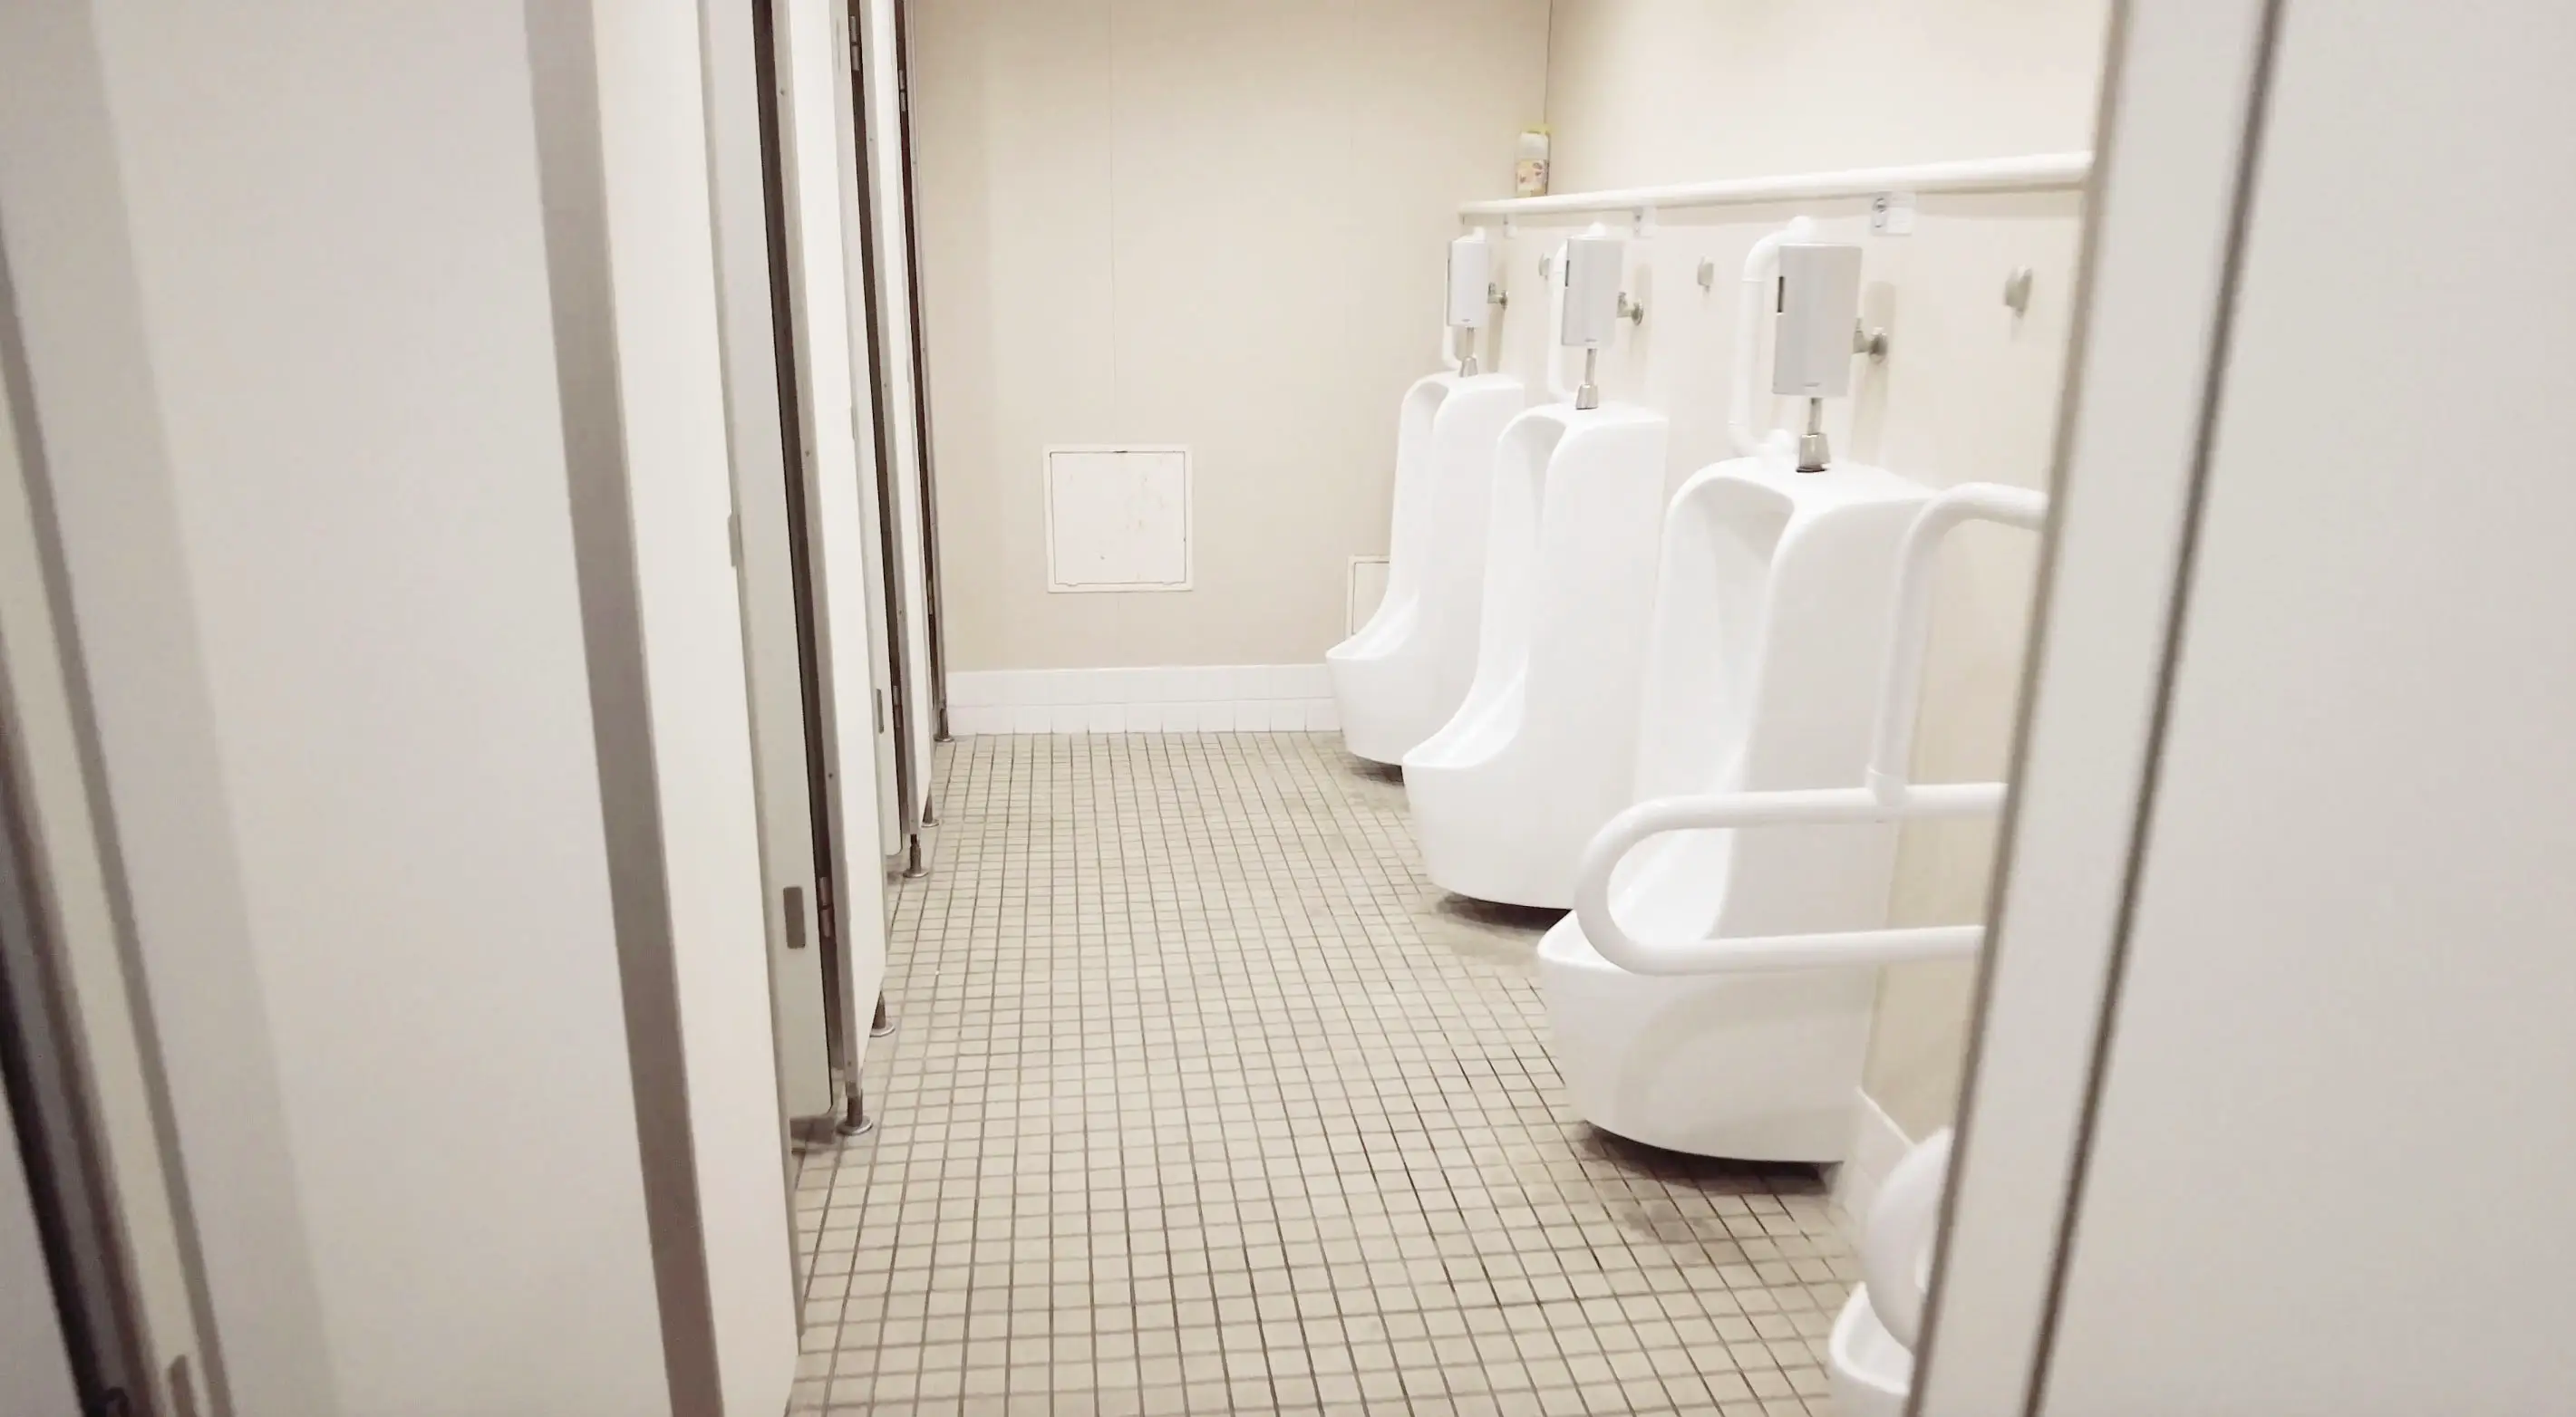
<path id="1" fill-rule="evenodd" d="M 1556 191 L 2092 142 L 2105 0 L 1556 0 Z"/>

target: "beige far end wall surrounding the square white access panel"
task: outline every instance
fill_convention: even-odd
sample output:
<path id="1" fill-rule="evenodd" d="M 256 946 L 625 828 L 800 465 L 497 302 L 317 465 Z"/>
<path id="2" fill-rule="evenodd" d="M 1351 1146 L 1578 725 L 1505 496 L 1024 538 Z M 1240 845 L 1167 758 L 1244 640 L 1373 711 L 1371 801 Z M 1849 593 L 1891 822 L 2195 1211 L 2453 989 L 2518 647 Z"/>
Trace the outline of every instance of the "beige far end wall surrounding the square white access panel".
<path id="1" fill-rule="evenodd" d="M 1510 196 L 1546 0 L 912 13 L 951 670 L 1296 665 L 1386 551 L 1461 201 Z M 1188 443 L 1195 590 L 1048 595 L 1041 448 Z"/>

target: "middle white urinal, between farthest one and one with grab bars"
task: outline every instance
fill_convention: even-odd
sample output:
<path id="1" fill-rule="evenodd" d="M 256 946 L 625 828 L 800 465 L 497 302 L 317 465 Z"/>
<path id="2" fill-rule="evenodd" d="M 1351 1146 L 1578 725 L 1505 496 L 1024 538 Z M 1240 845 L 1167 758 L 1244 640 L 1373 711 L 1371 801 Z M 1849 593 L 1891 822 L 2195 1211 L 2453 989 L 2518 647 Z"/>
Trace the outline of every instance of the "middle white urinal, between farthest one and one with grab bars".
<path id="1" fill-rule="evenodd" d="M 1569 907 L 1584 842 L 1628 806 L 1667 433 L 1623 404 L 1543 404 L 1502 433 L 1476 675 L 1404 755 L 1443 889 Z"/>

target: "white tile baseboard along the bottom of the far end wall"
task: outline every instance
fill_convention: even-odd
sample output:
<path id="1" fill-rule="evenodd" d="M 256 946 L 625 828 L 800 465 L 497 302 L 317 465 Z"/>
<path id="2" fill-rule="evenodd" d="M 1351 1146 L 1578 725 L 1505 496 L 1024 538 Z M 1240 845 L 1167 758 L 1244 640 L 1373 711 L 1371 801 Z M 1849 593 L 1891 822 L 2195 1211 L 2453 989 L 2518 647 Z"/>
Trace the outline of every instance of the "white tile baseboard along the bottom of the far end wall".
<path id="1" fill-rule="evenodd" d="M 966 670 L 948 675 L 948 729 L 966 734 L 1340 729 L 1324 665 L 1170 670 Z"/>

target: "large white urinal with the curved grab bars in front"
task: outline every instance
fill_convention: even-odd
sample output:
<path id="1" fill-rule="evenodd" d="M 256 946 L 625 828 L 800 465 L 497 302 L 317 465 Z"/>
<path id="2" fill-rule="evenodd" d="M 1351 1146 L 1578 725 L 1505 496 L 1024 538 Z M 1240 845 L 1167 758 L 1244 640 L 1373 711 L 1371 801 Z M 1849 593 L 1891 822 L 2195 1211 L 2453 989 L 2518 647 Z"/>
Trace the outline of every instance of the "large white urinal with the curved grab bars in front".
<path id="1" fill-rule="evenodd" d="M 1837 464 L 1700 469 L 1672 497 L 1641 747 L 1625 801 L 1862 781 L 1899 546 L 1929 492 Z M 1677 832 L 1613 876 L 1641 935 L 1880 925 L 1896 827 Z M 1870 1036 L 1875 969 L 1643 976 L 1569 915 L 1538 946 L 1574 1110 L 1633 1141 L 1837 1162 Z"/>

